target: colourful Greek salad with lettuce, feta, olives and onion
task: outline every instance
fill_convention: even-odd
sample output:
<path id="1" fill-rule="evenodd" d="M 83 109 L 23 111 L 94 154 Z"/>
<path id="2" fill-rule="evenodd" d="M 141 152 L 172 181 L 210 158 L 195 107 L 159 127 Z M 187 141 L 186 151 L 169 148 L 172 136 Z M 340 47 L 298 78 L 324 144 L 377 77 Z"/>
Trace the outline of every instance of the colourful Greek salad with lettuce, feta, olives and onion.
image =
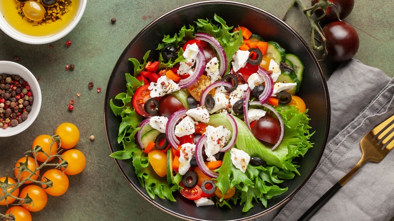
<path id="1" fill-rule="evenodd" d="M 175 201 L 179 192 L 196 206 L 266 207 L 313 145 L 295 95 L 303 63 L 274 40 L 215 15 L 130 58 L 127 91 L 114 98 L 122 104 L 110 101 L 124 150 L 111 156 L 132 159 L 152 198 Z"/>

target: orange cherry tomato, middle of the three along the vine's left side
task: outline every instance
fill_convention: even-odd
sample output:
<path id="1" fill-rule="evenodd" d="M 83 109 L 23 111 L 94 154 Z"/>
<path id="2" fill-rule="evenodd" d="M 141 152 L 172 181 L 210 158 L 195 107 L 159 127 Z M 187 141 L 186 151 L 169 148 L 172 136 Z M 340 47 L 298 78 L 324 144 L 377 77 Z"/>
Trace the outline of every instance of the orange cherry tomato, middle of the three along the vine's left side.
<path id="1" fill-rule="evenodd" d="M 26 163 L 26 157 L 27 157 L 27 163 Z M 26 164 L 26 165 L 25 165 Z M 24 170 L 21 170 L 21 173 L 19 174 L 19 169 L 24 166 Z M 26 179 L 28 176 L 30 176 L 31 172 L 34 171 L 36 168 L 38 168 L 39 165 L 38 163 L 34 160 L 33 157 L 30 156 L 24 156 L 15 163 L 15 168 L 14 168 L 14 175 L 16 179 L 19 180 L 19 182 L 22 182 L 24 179 Z M 28 171 L 28 170 L 30 171 Z M 40 171 L 37 170 L 35 174 L 30 177 L 30 180 L 37 180 L 38 176 L 40 175 Z M 32 183 L 32 181 L 26 181 L 25 184 Z"/>

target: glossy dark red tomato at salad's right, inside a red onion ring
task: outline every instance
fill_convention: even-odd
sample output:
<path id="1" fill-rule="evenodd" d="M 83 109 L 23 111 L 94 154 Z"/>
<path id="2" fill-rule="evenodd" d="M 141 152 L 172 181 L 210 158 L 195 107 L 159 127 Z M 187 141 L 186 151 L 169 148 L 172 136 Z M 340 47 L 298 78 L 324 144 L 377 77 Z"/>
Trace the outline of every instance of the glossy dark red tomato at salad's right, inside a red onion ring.
<path id="1" fill-rule="evenodd" d="M 280 137 L 280 123 L 279 120 L 271 115 L 265 115 L 259 120 L 251 123 L 253 135 L 258 139 L 268 142 L 276 143 Z"/>

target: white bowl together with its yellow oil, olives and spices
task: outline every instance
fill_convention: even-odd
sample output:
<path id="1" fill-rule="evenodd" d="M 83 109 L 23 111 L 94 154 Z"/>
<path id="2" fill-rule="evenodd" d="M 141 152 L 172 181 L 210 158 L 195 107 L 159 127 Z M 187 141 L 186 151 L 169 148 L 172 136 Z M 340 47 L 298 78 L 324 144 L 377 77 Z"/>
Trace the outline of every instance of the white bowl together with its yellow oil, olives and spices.
<path id="1" fill-rule="evenodd" d="M 87 0 L 0 1 L 0 29 L 29 44 L 45 44 L 70 33 L 85 11 Z"/>

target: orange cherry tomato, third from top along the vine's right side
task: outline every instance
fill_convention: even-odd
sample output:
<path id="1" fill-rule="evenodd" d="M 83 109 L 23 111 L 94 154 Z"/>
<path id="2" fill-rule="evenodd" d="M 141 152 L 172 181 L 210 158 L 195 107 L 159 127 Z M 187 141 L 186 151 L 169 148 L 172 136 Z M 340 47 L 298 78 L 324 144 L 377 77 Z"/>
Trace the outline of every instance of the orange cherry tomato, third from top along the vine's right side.
<path id="1" fill-rule="evenodd" d="M 46 171 L 41 178 L 41 182 L 47 182 L 48 180 L 52 181 L 52 187 L 47 187 L 47 185 L 41 184 L 41 187 L 44 188 L 44 191 L 51 196 L 60 196 L 63 195 L 69 186 L 69 180 L 66 174 L 64 174 L 61 170 L 51 169 Z"/>

